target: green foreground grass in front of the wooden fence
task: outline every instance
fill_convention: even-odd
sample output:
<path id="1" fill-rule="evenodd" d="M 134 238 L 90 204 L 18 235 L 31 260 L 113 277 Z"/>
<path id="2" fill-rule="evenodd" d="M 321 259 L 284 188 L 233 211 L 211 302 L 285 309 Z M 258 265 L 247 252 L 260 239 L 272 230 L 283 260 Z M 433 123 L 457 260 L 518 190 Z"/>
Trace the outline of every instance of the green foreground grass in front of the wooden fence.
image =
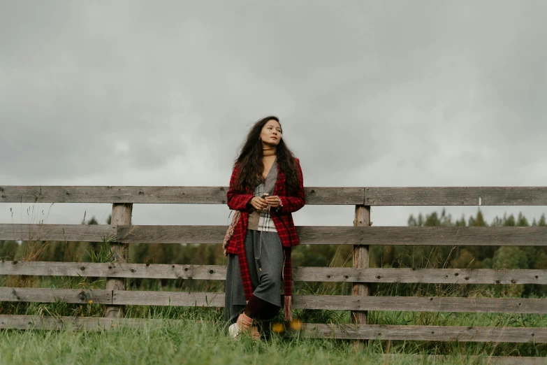
<path id="1" fill-rule="evenodd" d="M 469 355 L 490 355 L 485 349 L 444 344 L 444 364 L 486 364 Z M 286 337 L 273 334 L 268 341 L 233 341 L 221 324 L 180 324 L 119 328 L 113 331 L 2 331 L 2 364 L 432 364 L 425 359 L 384 357 L 423 354 L 412 343 L 375 341 L 367 347 L 351 341 Z M 435 351 L 433 351 L 435 352 Z M 439 364 L 439 359 L 435 360 Z"/>

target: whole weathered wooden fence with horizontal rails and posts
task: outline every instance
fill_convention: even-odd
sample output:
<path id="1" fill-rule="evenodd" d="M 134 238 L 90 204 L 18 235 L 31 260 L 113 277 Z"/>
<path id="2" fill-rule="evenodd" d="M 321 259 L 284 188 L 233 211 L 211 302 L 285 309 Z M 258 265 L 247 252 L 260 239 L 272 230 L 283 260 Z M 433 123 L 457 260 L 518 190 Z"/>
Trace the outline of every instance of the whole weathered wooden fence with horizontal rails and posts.
<path id="1" fill-rule="evenodd" d="M 98 242 L 115 237 L 115 263 L 0 262 L 0 275 L 106 277 L 106 289 L 0 287 L 0 301 L 103 303 L 103 318 L 0 315 L 0 328 L 59 328 L 64 322 L 108 328 L 125 305 L 224 306 L 224 294 L 126 290 L 126 278 L 224 280 L 225 266 L 133 264 L 131 243 L 219 244 L 225 226 L 130 225 L 135 203 L 226 204 L 227 187 L 1 186 L 0 203 L 112 203 L 110 225 L 0 224 L 0 240 Z M 355 206 L 353 227 L 297 227 L 303 245 L 351 245 L 353 267 L 298 267 L 295 281 L 351 282 L 351 296 L 296 295 L 294 308 L 351 310 L 353 325 L 304 324 L 330 338 L 547 343 L 547 328 L 367 324 L 367 310 L 547 313 L 547 299 L 369 296 L 372 282 L 547 284 L 547 270 L 369 268 L 370 245 L 547 245 L 547 227 L 371 227 L 371 206 L 547 206 L 547 187 L 307 187 L 307 205 Z M 137 324 L 140 320 L 125 320 Z"/>

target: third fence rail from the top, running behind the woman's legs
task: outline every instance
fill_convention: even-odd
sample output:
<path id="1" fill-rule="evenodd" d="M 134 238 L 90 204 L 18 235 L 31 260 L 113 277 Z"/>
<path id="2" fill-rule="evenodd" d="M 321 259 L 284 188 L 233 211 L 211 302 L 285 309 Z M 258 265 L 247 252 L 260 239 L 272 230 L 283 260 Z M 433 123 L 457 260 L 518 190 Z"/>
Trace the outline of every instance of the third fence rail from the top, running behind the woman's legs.
<path id="1" fill-rule="evenodd" d="M 226 280 L 226 266 L 1 261 L 0 275 L 82 276 L 184 280 Z M 421 282 L 427 284 L 547 284 L 547 270 L 516 269 L 353 269 L 296 267 L 294 281 Z"/>

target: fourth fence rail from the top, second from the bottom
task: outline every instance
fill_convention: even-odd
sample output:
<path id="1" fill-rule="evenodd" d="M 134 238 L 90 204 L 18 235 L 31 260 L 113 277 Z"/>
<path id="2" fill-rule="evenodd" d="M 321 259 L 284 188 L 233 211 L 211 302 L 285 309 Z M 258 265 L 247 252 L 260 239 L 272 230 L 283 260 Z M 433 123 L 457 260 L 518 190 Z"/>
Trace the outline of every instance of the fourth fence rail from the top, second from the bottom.
<path id="1" fill-rule="evenodd" d="M 224 293 L 0 287 L 0 301 L 224 307 Z M 547 313 L 547 299 L 295 295 L 293 308 L 453 313 Z"/>

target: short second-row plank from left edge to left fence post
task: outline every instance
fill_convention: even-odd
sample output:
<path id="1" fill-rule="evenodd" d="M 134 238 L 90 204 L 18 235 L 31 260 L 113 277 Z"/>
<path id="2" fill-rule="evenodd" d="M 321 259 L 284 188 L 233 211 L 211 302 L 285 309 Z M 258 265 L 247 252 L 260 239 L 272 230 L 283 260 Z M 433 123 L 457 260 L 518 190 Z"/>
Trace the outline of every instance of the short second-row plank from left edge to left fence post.
<path id="1" fill-rule="evenodd" d="M 106 224 L 0 224 L 0 240 L 101 242 L 116 235 Z"/>

